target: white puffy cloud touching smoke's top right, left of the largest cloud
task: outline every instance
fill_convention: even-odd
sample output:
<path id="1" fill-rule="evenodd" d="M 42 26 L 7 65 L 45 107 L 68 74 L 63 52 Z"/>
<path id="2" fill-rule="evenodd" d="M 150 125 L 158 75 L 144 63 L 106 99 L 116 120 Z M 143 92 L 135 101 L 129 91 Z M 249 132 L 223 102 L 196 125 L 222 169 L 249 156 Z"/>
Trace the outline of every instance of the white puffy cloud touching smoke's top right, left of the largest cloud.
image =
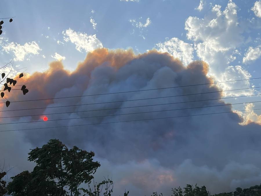
<path id="1" fill-rule="evenodd" d="M 166 39 L 163 43 L 155 44 L 160 52 L 168 52 L 173 57 L 179 58 L 185 65 L 193 60 L 193 45 L 183 42 L 182 40 L 173 37 L 170 40 Z"/>

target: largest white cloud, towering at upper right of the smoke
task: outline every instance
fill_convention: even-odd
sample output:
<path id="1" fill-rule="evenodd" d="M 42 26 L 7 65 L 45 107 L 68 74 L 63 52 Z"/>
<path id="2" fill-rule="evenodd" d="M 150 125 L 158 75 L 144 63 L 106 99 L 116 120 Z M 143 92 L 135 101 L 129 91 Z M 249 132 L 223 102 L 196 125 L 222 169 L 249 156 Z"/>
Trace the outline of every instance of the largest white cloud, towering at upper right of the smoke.
<path id="1" fill-rule="evenodd" d="M 244 44 L 235 3 L 229 1 L 224 11 L 220 5 L 203 19 L 189 17 L 185 22 L 187 38 L 195 44 L 197 56 L 210 65 L 210 73 L 216 77 L 239 55 L 234 51 Z"/>

